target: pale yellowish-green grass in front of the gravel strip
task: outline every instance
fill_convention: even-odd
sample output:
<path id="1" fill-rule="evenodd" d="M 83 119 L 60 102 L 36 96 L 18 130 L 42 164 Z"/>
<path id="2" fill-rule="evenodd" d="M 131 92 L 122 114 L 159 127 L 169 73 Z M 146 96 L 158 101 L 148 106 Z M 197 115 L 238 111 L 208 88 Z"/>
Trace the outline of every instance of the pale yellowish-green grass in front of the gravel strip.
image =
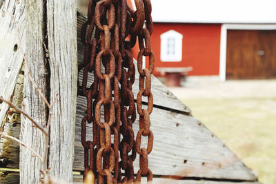
<path id="1" fill-rule="evenodd" d="M 276 98 L 182 99 L 265 184 L 276 183 Z"/>

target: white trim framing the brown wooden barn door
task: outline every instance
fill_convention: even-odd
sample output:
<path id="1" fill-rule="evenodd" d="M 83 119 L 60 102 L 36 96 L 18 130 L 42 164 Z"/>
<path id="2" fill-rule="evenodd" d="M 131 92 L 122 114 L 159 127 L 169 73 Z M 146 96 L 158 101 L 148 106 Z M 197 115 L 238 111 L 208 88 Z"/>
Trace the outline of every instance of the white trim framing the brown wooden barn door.
<path id="1" fill-rule="evenodd" d="M 276 24 L 222 24 L 220 34 L 219 80 L 226 81 L 227 30 L 276 30 Z"/>

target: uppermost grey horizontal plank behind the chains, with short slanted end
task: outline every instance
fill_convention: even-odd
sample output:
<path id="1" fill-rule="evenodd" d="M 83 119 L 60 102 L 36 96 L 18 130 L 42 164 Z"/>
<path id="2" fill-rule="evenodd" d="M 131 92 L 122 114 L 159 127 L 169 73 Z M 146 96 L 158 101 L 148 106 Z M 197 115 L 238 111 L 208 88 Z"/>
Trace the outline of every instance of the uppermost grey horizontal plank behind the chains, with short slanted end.
<path id="1" fill-rule="evenodd" d="M 80 41 L 80 28 L 82 23 L 86 20 L 86 17 L 78 12 L 77 16 L 77 32 L 78 32 L 78 63 L 83 63 L 83 50 L 84 47 Z M 137 65 L 137 61 L 135 61 L 135 65 Z M 82 71 L 79 72 L 80 82 L 82 80 Z M 90 75 L 90 79 L 88 80 L 88 85 L 90 85 L 93 81 L 92 74 Z M 139 92 L 139 73 L 136 70 L 135 74 L 135 84 L 132 85 L 133 94 L 135 99 L 137 97 L 137 93 Z M 177 97 L 170 92 L 164 85 L 155 77 L 152 76 L 152 94 L 154 96 L 154 104 L 159 105 L 164 108 L 170 108 L 171 110 L 178 110 L 187 114 L 190 114 L 190 109 L 184 105 Z M 169 103 L 168 103 L 169 101 Z"/>

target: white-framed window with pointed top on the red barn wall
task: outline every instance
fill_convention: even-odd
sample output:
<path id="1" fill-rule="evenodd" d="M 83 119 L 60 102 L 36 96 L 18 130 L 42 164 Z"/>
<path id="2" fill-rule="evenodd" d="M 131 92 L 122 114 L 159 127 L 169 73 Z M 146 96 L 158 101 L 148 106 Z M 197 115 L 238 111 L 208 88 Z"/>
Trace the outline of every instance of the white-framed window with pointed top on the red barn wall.
<path id="1" fill-rule="evenodd" d="M 175 30 L 161 34 L 161 61 L 179 62 L 182 60 L 183 35 Z"/>

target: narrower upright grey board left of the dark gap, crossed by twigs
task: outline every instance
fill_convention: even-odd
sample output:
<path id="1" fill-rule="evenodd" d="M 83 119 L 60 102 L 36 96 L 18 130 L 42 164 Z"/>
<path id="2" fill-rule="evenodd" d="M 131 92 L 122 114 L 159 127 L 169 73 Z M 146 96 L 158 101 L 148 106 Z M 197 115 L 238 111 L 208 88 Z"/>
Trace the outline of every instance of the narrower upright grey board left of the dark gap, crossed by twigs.
<path id="1" fill-rule="evenodd" d="M 16 1 L 10 3 L 17 3 Z M 20 3 L 24 3 L 20 1 Z M 30 72 L 34 81 L 37 83 L 41 92 L 46 94 L 46 67 L 43 53 L 43 0 L 25 1 L 26 5 L 26 37 L 22 39 L 26 43 L 26 57 L 28 59 Z M 22 5 L 23 6 L 23 5 Z M 25 16 L 23 13 L 22 16 Z M 30 114 L 41 125 L 47 121 L 46 105 L 37 94 L 28 74 L 25 72 L 24 80 L 24 99 L 26 112 Z M 43 134 L 37 128 L 32 127 L 32 123 L 24 116 L 21 116 L 21 141 L 43 155 Z M 41 174 L 41 162 L 38 158 L 32 157 L 32 152 L 21 147 L 20 152 L 20 183 L 39 183 Z"/>

